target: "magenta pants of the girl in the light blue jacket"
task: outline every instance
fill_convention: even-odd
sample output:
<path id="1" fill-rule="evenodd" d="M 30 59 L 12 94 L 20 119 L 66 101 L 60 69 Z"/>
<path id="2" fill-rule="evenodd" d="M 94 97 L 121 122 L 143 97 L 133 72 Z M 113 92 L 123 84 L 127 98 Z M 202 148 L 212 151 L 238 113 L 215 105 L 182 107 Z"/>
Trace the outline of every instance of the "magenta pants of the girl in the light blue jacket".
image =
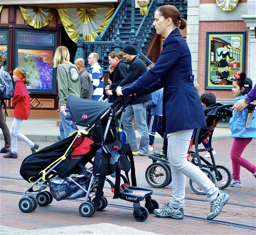
<path id="1" fill-rule="evenodd" d="M 241 155 L 244 148 L 252 141 L 253 138 L 235 138 L 232 148 L 231 148 L 231 160 L 233 168 L 233 180 L 240 180 L 240 168 L 241 166 L 254 173 L 256 171 L 256 166 L 248 162 L 246 159 L 242 158 Z"/>

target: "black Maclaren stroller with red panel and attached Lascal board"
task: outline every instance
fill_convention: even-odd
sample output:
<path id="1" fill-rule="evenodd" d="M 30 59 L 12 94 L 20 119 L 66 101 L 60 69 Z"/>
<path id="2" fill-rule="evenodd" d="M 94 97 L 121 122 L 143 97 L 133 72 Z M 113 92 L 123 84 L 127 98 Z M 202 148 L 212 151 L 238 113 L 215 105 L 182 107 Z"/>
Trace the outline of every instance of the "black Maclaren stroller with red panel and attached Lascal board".
<path id="1" fill-rule="evenodd" d="M 47 206 L 53 198 L 59 201 L 85 197 L 79 206 L 79 213 L 90 217 L 96 210 L 103 210 L 108 205 L 103 192 L 105 181 L 111 186 L 113 198 L 133 203 L 133 215 L 137 221 L 146 220 L 148 212 L 153 213 L 159 208 L 157 201 L 151 199 L 152 190 L 137 187 L 133 154 L 130 145 L 125 143 L 125 132 L 120 128 L 130 100 L 122 107 L 121 102 L 122 97 L 111 104 L 68 96 L 73 121 L 78 128 L 85 130 L 75 131 L 66 139 L 23 160 L 20 175 L 34 183 L 20 199 L 22 212 L 34 211 L 38 205 Z M 88 168 L 87 163 L 90 164 Z M 115 177 L 115 183 L 107 177 L 109 175 Z M 34 190 L 34 186 L 40 188 Z M 43 191 L 47 187 L 50 192 Z M 26 197 L 27 192 L 38 193 L 36 197 Z M 140 206 L 144 199 L 145 207 Z"/>

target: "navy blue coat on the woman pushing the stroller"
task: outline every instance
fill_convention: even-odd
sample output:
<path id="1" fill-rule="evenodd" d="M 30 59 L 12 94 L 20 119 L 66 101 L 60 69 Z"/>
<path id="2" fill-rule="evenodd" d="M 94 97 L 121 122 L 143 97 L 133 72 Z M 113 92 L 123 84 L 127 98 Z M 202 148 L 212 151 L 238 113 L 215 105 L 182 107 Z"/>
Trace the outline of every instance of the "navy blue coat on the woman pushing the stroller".
<path id="1" fill-rule="evenodd" d="M 166 133 L 206 126 L 204 108 L 194 86 L 189 47 L 174 29 L 163 42 L 163 50 L 150 70 L 122 87 L 124 96 L 143 96 L 163 87 L 163 130 Z"/>

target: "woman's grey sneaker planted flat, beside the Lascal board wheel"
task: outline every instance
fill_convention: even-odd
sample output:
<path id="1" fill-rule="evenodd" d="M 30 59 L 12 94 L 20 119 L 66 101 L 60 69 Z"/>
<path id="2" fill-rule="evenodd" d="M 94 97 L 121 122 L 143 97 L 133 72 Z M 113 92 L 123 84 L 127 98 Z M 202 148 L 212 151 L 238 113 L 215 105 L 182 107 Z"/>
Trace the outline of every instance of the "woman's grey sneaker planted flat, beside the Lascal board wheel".
<path id="1" fill-rule="evenodd" d="M 167 203 L 162 209 L 154 209 L 154 214 L 157 217 L 168 217 L 176 220 L 181 220 L 184 218 L 183 208 L 180 206 L 177 209 L 174 209 L 171 203 Z"/>

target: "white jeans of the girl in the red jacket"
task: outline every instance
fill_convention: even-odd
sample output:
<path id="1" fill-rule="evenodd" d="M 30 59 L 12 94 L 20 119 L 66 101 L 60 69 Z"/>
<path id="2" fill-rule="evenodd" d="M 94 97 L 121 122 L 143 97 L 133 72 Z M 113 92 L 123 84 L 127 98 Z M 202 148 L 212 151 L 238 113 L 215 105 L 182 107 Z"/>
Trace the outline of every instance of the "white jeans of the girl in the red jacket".
<path id="1" fill-rule="evenodd" d="M 10 129 L 10 134 L 12 137 L 12 153 L 17 153 L 17 138 L 23 140 L 26 144 L 30 146 L 30 148 L 34 148 L 35 144 L 28 139 L 26 136 L 24 136 L 22 133 L 20 133 L 20 127 L 23 119 L 14 118 L 12 122 L 12 127 Z"/>

